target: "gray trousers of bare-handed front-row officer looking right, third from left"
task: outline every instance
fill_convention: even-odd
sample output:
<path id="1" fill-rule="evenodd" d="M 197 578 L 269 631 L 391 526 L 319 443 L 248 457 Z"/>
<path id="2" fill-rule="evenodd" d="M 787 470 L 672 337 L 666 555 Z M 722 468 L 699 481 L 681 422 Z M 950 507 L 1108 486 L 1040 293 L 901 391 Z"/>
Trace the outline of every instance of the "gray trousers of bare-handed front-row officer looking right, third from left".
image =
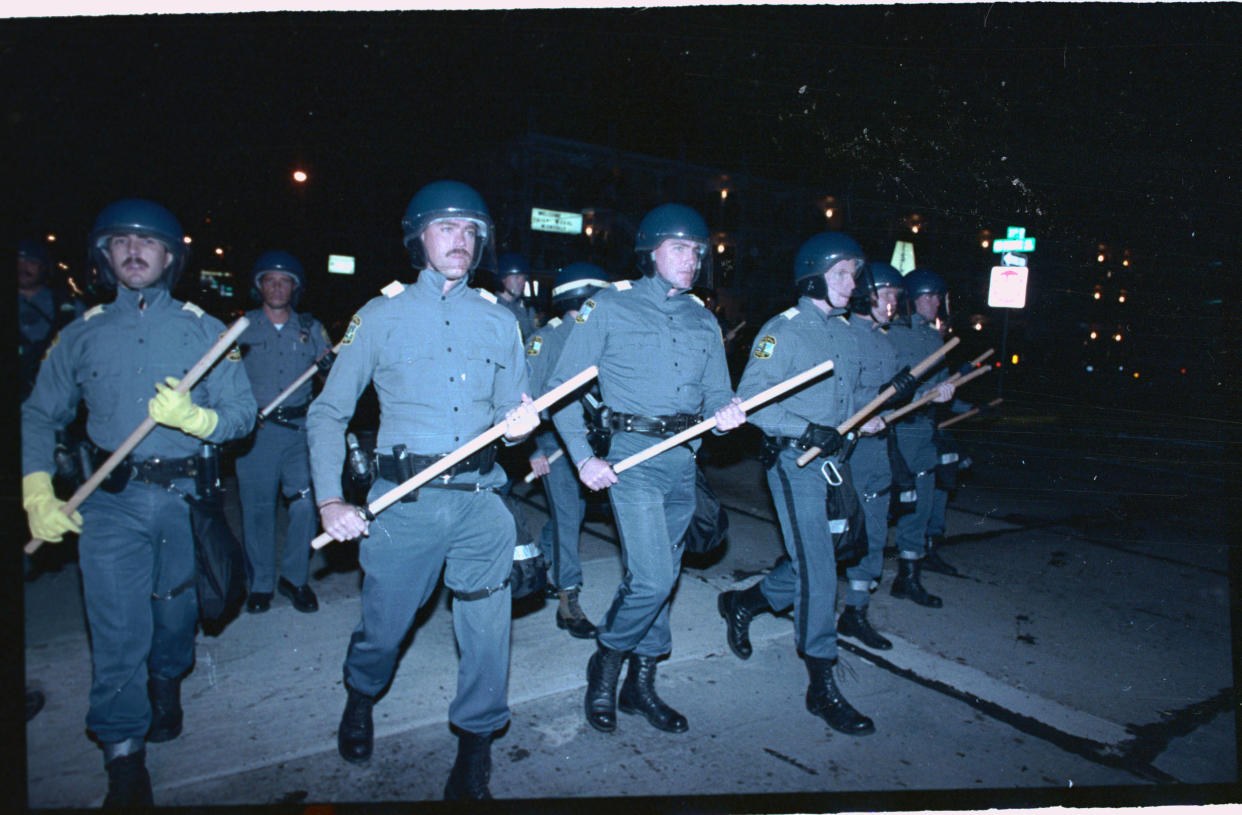
<path id="1" fill-rule="evenodd" d="M 609 463 L 658 444 L 656 436 L 619 432 Z M 601 645 L 640 656 L 672 651 L 669 596 L 682 568 L 682 538 L 694 517 L 694 452 L 673 447 L 617 476 L 609 501 L 621 535 L 621 585 L 597 626 Z"/>

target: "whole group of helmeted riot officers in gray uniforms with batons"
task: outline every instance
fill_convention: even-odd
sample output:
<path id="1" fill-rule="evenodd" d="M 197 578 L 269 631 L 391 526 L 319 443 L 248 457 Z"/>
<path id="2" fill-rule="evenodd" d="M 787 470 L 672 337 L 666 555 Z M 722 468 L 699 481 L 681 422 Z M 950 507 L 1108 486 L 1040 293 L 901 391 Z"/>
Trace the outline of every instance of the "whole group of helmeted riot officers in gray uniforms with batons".
<path id="1" fill-rule="evenodd" d="M 252 294 L 261 306 L 246 314 L 236 345 L 188 390 L 180 379 L 225 326 L 171 294 L 186 262 L 171 212 L 125 199 L 99 214 L 89 246 L 116 297 L 84 313 L 27 291 L 35 287 L 22 282 L 24 262 L 41 262 L 46 280 L 46 256 L 31 257 L 37 246 L 20 247 L 19 302 L 48 312 L 46 326 L 34 326 L 34 313 L 29 321 L 39 329 L 30 344 L 41 365 L 22 404 L 22 506 L 36 539 L 78 535 L 93 665 L 86 724 L 103 749 L 104 805 L 150 805 L 145 744 L 181 732 L 180 682 L 193 667 L 199 622 L 191 506 L 217 488 L 204 478 L 215 472 L 204 462 L 238 440 L 248 612 L 266 611 L 274 591 L 298 611 L 315 611 L 312 537 L 322 528 L 334 540 L 360 542 L 361 619 L 344 660 L 340 755 L 353 763 L 370 758 L 373 707 L 442 573 L 460 650 L 448 709 L 458 753 L 445 798 L 491 796 L 491 742 L 509 721 L 512 581 L 522 543 L 505 494 L 510 476 L 525 473 L 505 473 L 493 444 L 381 512 L 359 506 L 343 472 L 347 430 L 369 385 L 380 422 L 368 456 L 368 502 L 489 429 L 499 430 L 499 446 L 528 444 L 519 450 L 530 451 L 529 458 L 519 461 L 529 460 L 548 496 L 540 543 L 548 591 L 559 599 L 556 625 L 596 641 L 585 668 L 584 714 L 601 732 L 616 729 L 617 709 L 669 733 L 689 729 L 657 694 L 655 680 L 672 650 L 669 598 L 696 511 L 700 440 L 621 472 L 616 465 L 704 417 L 714 419 L 717 435 L 758 426 L 787 555 L 761 581 L 719 595 L 729 646 L 748 658 L 753 616 L 791 608 L 810 676 L 807 709 L 842 733 L 872 732 L 872 721 L 842 697 L 833 666 L 838 634 L 891 647 L 867 620 L 891 493 L 913 497 L 913 511 L 895 523 L 892 595 L 939 608 L 920 569 L 953 567 L 929 548 L 928 530 L 936 524 L 933 518 L 929 526 L 929 516 L 938 509 L 943 535 L 944 512 L 935 499 L 930 410 L 892 427 L 878 411 L 856 427 L 845 422 L 886 389 L 894 396 L 884 410 L 928 391 L 935 403 L 953 401 L 944 365 L 910 374 L 943 343 L 943 281 L 925 270 L 903 278 L 891 266 L 867 263 L 842 232 L 812 236 L 795 261 L 796 306 L 758 332 L 734 390 L 717 317 L 691 293 L 710 263 L 709 231 L 691 207 L 664 204 L 643 217 L 635 280 L 611 281 L 587 262 L 561 268 L 551 292 L 555 316 L 543 326 L 522 297 L 529 266 L 518 255 L 496 257 L 496 229 L 476 190 L 428 184 L 401 225 L 414 281 L 394 282 L 365 303 L 335 347 L 318 321 L 297 311 L 307 288 L 298 260 L 284 251 L 257 258 Z M 478 268 L 494 272 L 497 293 L 471 286 Z M 58 319 L 62 311 L 66 319 Z M 24 317 L 24 335 L 26 323 Z M 825 360 L 833 363 L 830 375 L 744 410 L 745 400 Z M 594 381 L 537 412 L 533 396 L 591 367 Z M 315 379 L 322 385 L 312 398 Z M 52 475 L 58 434 L 81 421 L 81 405 L 83 446 L 94 466 L 145 420 L 154 430 L 70 511 Z M 812 448 L 817 457 L 800 466 Z M 584 488 L 606 491 L 621 542 L 622 579 L 597 624 L 579 605 Z M 288 527 L 279 548 L 282 501 Z M 863 554 L 843 564 L 848 589 L 838 619 L 837 562 L 846 539 Z"/>

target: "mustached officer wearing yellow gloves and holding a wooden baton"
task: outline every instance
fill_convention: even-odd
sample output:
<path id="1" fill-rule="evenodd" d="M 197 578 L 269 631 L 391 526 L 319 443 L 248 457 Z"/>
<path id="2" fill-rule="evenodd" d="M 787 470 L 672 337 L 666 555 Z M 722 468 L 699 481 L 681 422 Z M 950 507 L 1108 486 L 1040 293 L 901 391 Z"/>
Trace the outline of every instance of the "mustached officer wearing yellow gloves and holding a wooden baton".
<path id="1" fill-rule="evenodd" d="M 106 281 L 119 283 L 116 299 L 61 332 L 22 405 L 30 529 L 48 542 L 79 533 L 93 665 L 86 724 L 103 745 L 106 806 L 150 805 L 145 742 L 181 732 L 180 682 L 194 663 L 197 619 L 181 496 L 195 492 L 204 442 L 245 436 L 257 410 L 236 349 L 189 394 L 174 390 L 225 332 L 220 321 L 170 294 L 186 260 L 183 237 L 176 217 L 152 201 L 125 199 L 99 214 L 89 245 Z M 148 416 L 159 426 L 81 513 L 67 517 L 48 470 L 55 431 L 73 417 L 78 400 L 88 410 L 87 435 L 103 451 Z"/>

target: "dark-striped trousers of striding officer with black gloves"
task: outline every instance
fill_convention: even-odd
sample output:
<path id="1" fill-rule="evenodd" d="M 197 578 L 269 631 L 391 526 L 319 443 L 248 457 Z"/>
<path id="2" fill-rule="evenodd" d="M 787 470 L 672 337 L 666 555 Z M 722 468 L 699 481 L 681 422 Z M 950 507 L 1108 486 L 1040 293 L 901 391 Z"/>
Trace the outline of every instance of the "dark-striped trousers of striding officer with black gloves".
<path id="1" fill-rule="evenodd" d="M 825 460 L 797 466 L 799 450 L 785 448 L 768 471 L 768 486 L 790 559 L 781 559 L 759 588 L 773 611 L 794 608 L 796 645 L 804 656 L 837 657 L 837 555 L 828 530 Z M 847 465 L 837 463 L 837 468 Z"/>

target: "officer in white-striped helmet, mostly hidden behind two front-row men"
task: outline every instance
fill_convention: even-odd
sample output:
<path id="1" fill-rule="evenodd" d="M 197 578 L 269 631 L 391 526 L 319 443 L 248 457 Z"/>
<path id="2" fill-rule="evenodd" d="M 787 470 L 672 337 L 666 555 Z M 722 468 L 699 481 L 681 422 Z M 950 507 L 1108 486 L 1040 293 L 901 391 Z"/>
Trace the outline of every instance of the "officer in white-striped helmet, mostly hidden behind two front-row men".
<path id="1" fill-rule="evenodd" d="M 560 317 L 553 317 L 527 342 L 530 386 L 537 393 L 548 390 L 544 383 L 550 378 L 565 340 L 574 329 L 579 309 L 607 286 L 607 272 L 595 263 L 570 263 L 556 272 L 551 304 Z M 586 502 L 582 499 L 578 476 L 569 460 L 561 457 L 548 461 L 559 447 L 560 440 L 551 427 L 544 426 L 535 434 L 535 453 L 530 457 L 530 470 L 543 478 L 549 514 L 540 533 L 539 548 L 550 555 L 548 578 L 560 600 L 556 606 L 556 627 L 569 631 L 570 636 L 589 639 L 595 636 L 595 626 L 578 603 L 582 588 L 582 564 L 578 557 L 578 545 Z"/>

